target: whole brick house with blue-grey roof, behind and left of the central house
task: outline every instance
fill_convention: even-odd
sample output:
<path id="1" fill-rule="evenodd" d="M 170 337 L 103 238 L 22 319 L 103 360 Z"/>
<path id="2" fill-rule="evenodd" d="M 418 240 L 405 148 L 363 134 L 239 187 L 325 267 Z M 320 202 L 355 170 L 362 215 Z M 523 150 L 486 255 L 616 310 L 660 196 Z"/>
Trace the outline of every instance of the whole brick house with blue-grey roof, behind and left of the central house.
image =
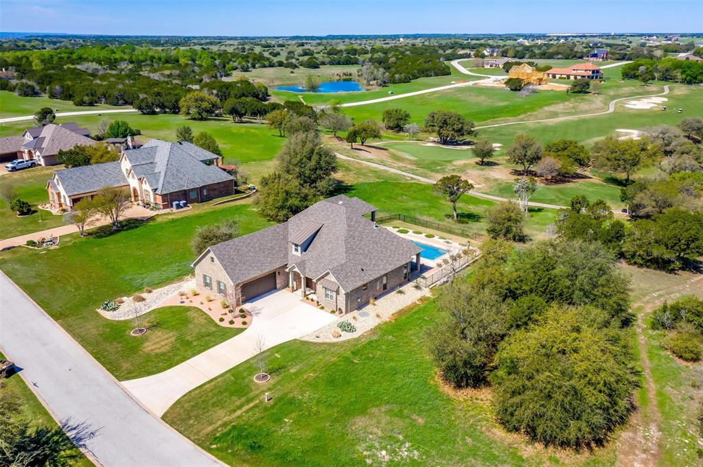
<path id="1" fill-rule="evenodd" d="M 236 180 L 219 169 L 220 157 L 187 142 L 150 140 L 139 149 L 122 152 L 118 162 L 58 170 L 46 184 L 55 208 L 72 208 L 101 188 L 129 190 L 133 202 L 166 209 L 173 202 L 188 204 L 233 195 Z"/>

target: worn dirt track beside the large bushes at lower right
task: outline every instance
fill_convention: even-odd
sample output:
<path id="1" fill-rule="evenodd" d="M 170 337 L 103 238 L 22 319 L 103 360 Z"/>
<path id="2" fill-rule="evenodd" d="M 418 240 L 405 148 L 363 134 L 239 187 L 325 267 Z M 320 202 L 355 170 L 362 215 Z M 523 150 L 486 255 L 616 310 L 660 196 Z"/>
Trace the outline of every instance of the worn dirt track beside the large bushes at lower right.
<path id="1" fill-rule="evenodd" d="M 616 466 L 621 467 L 656 467 L 659 460 L 659 440 L 662 432 L 659 429 L 661 414 L 657 407 L 657 386 L 654 384 L 652 377 L 652 364 L 647 355 L 647 338 L 645 337 L 645 317 L 649 315 L 654 308 L 657 308 L 665 300 L 678 298 L 679 296 L 689 294 L 691 287 L 703 281 L 703 275 L 692 277 L 685 283 L 654 291 L 647 295 L 638 303 L 633 305 L 633 308 L 644 306 L 637 315 L 636 331 L 637 343 L 640 352 L 640 364 L 645 377 L 645 389 L 647 390 L 647 399 L 649 404 L 646 408 L 638 408 L 633 414 L 630 421 L 630 426 L 620 436 L 617 453 L 618 458 Z"/>

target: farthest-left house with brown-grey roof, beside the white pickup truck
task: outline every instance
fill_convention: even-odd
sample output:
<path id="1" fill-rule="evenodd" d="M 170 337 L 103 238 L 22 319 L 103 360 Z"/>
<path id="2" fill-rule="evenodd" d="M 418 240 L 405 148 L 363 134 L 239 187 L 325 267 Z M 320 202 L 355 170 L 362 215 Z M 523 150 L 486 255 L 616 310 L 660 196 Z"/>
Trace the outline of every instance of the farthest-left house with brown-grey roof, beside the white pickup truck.
<path id="1" fill-rule="evenodd" d="M 48 124 L 30 128 L 22 133 L 24 143 L 20 147 L 21 159 L 37 159 L 37 164 L 53 166 L 58 164 L 56 155 L 61 150 L 69 150 L 78 145 L 94 145 L 98 142 L 88 138 L 90 132 L 79 128 L 75 123 Z"/>

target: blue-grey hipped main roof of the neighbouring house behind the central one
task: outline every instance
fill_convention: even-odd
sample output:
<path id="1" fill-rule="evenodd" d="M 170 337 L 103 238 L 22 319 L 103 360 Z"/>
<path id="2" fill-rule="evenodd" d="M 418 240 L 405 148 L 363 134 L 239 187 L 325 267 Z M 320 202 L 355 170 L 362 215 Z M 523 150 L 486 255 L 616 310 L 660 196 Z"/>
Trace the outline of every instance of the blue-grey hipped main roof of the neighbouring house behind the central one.
<path id="1" fill-rule="evenodd" d="M 219 167 L 202 163 L 219 156 L 191 143 L 150 140 L 138 149 L 124 151 L 124 157 L 136 176 L 145 177 L 160 195 L 233 180 Z"/>

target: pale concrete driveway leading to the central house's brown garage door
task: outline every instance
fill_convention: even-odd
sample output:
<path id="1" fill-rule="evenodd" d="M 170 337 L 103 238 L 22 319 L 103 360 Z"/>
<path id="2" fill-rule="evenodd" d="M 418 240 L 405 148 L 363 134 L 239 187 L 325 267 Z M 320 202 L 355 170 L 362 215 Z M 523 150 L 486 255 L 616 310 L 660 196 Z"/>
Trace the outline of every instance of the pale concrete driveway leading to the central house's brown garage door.
<path id="1" fill-rule="evenodd" d="M 264 338 L 264 347 L 271 348 L 310 334 L 336 319 L 285 290 L 270 292 L 244 306 L 252 312 L 253 320 L 242 334 L 162 373 L 122 384 L 151 412 L 162 416 L 188 391 L 253 357 L 259 336 Z"/>

